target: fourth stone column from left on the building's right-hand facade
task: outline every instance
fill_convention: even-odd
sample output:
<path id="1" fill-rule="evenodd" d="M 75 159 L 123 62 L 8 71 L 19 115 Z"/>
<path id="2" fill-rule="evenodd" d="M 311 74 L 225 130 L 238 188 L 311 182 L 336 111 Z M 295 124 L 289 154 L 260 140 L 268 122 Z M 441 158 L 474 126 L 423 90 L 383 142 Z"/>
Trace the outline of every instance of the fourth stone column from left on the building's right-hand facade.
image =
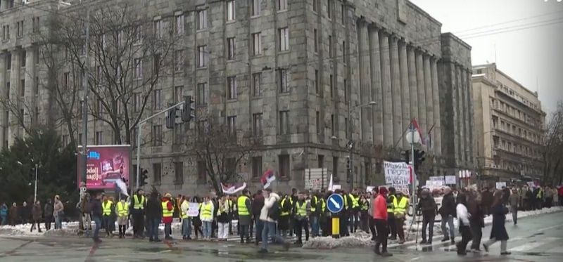
<path id="1" fill-rule="evenodd" d="M 391 96 L 393 97 L 393 145 L 401 144 L 403 133 L 403 113 L 401 108 L 401 85 L 400 85 L 400 67 L 399 67 L 399 49 L 398 39 L 396 37 L 389 38 L 389 57 L 391 58 Z"/>

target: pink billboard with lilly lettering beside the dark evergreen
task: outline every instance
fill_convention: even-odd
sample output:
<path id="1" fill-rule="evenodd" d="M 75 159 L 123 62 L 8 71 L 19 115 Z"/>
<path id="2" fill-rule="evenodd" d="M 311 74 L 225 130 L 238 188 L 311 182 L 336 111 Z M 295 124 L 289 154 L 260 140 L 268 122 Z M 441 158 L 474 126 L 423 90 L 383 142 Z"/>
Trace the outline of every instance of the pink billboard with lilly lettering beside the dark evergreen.
<path id="1" fill-rule="evenodd" d="M 82 151 L 82 147 L 78 147 Z M 89 190 L 113 190 L 116 181 L 129 185 L 131 165 L 130 145 L 89 145 L 86 160 L 86 188 Z M 80 187 L 82 157 L 78 155 L 77 185 Z"/>

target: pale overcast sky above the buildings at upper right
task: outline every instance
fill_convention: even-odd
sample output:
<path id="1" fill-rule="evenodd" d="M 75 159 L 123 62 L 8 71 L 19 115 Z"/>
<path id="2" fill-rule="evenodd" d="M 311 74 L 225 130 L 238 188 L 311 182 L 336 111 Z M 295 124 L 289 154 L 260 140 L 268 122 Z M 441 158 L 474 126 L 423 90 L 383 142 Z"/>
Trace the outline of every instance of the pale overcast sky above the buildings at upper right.
<path id="1" fill-rule="evenodd" d="M 442 32 L 472 46 L 473 65 L 496 62 L 499 70 L 538 91 L 548 114 L 563 100 L 563 1 L 410 1 L 440 21 Z"/>

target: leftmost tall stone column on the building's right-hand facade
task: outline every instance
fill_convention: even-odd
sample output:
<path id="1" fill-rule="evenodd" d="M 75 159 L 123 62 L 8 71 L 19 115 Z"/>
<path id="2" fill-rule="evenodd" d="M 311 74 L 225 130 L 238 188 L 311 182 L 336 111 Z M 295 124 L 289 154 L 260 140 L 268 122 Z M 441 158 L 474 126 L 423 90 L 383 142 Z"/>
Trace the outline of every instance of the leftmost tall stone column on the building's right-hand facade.
<path id="1" fill-rule="evenodd" d="M 369 32 L 367 23 L 358 23 L 358 64 L 360 67 L 360 126 L 362 141 L 372 140 L 372 115 L 369 108 L 369 101 L 372 98 L 372 77 L 369 60 Z M 358 111 L 355 111 L 358 112 Z"/>

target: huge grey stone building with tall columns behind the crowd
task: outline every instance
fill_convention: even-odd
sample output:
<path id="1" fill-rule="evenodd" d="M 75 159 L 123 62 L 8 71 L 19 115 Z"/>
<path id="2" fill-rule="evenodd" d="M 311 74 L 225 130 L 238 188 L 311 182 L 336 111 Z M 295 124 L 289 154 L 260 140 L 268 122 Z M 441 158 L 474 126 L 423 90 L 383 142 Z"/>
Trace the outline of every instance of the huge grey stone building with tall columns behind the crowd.
<path id="1" fill-rule="evenodd" d="M 49 91 L 38 84 L 48 77 L 27 36 L 44 28 L 55 10 L 83 6 L 27 2 L 1 1 L 0 24 L 9 27 L 0 44 L 1 96 L 32 101 L 37 106 L 34 112 L 22 109 L 23 124 L 45 124 L 54 121 L 49 114 L 56 110 Z M 271 168 L 279 190 L 303 188 L 304 170 L 324 167 L 343 188 L 384 183 L 383 161 L 400 161 L 408 148 L 403 133 L 413 118 L 424 136 L 431 130 L 422 147 L 428 164 L 420 174 L 474 171 L 470 47 L 442 34 L 441 23 L 410 1 L 121 2 L 153 21 L 144 33 L 169 27 L 180 32 L 175 52 L 184 58 L 183 74 L 159 81 L 158 96 L 150 96 L 158 101 L 149 103 L 159 107 L 149 106 L 144 114 L 191 95 L 198 112 L 262 136 L 263 150 L 236 166 L 246 181 L 258 182 Z M 12 111 L 4 108 L 0 118 L 3 147 L 24 135 Z M 102 122 L 91 117 L 89 123 L 89 144 L 115 140 Z M 206 190 L 201 164 L 175 139 L 178 131 L 163 125 L 164 118 L 156 118 L 144 129 L 170 141 L 144 145 L 141 166 L 149 180 L 172 192 Z M 67 141 L 68 131 L 60 130 Z M 347 177 L 350 141 L 353 176 Z"/>

